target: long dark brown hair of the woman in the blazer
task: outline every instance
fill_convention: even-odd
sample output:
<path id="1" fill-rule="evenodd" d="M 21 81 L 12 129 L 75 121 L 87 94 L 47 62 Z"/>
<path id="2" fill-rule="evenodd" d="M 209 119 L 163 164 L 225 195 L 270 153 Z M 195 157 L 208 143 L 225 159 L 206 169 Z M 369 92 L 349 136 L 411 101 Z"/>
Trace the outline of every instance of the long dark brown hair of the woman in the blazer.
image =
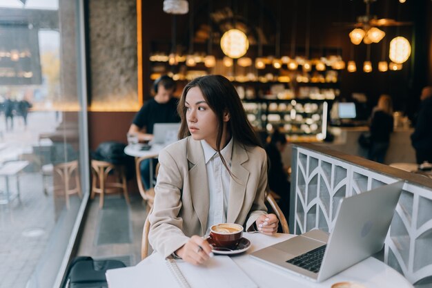
<path id="1" fill-rule="evenodd" d="M 235 90 L 233 84 L 222 75 L 207 75 L 197 77 L 190 81 L 183 90 L 177 112 L 181 117 L 181 126 L 179 130 L 179 139 L 183 139 L 190 135 L 188 124 L 186 121 L 186 94 L 190 88 L 198 87 L 201 90 L 206 103 L 210 109 L 216 114 L 218 122 L 218 131 L 216 137 L 216 147 L 219 157 L 221 157 L 224 166 L 226 166 L 224 157 L 220 153 L 222 133 L 224 132 L 224 113 L 229 113 L 230 120 L 228 121 L 228 133 L 233 137 L 235 142 L 244 146 L 260 146 L 257 135 L 253 131 L 251 123 L 246 117 L 246 112 L 242 105 L 242 101 Z M 223 147 L 222 147 L 223 148 Z M 226 166 L 228 169 L 228 167 Z M 229 171 L 229 169 L 228 169 Z"/>

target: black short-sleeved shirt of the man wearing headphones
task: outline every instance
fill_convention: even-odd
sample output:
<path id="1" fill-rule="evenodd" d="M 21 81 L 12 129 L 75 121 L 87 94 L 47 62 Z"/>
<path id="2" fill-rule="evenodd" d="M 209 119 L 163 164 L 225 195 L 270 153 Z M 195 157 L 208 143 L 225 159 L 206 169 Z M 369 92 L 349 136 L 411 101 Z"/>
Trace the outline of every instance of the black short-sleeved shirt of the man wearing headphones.
<path id="1" fill-rule="evenodd" d="M 138 111 L 132 123 L 139 128 L 146 127 L 146 133 L 153 134 L 155 123 L 175 123 L 180 122 L 177 114 L 177 99 L 171 98 L 165 104 L 159 104 L 155 99 L 150 99 Z"/>

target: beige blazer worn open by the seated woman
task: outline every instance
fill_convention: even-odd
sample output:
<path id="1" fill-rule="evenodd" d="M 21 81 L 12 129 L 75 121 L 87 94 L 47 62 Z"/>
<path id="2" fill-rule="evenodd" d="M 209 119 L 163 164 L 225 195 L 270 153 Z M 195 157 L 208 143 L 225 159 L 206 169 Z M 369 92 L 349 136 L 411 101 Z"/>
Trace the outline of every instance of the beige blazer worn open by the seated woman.
<path id="1" fill-rule="evenodd" d="M 167 146 L 159 154 L 159 163 L 148 240 L 153 249 L 168 257 L 190 236 L 204 236 L 210 200 L 204 151 L 199 141 L 186 137 Z M 235 178 L 230 181 L 226 220 L 241 224 L 248 231 L 258 216 L 267 211 L 266 152 L 261 147 L 234 142 L 231 171 Z"/>

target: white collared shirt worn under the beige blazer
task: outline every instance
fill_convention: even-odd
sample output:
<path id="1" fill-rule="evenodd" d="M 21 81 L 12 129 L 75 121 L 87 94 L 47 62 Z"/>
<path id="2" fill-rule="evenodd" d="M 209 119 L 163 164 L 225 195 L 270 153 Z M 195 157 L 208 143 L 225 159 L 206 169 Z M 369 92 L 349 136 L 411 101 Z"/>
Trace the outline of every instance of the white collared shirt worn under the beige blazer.
<path id="1" fill-rule="evenodd" d="M 231 176 L 222 163 L 217 151 L 205 141 L 201 140 L 204 150 L 204 160 L 206 161 L 206 171 L 209 191 L 209 211 L 207 218 L 206 235 L 210 233 L 210 227 L 214 224 L 226 222 L 228 211 L 228 199 L 230 195 Z M 231 167 L 231 154 L 233 152 L 233 138 L 221 150 L 221 154 L 228 167 Z"/>

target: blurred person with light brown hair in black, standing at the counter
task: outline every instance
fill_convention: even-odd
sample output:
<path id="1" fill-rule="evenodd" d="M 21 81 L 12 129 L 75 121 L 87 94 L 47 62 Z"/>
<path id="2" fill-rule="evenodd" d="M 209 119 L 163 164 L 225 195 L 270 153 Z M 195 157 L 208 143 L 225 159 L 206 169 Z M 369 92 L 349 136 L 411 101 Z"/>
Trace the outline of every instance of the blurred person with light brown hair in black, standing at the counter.
<path id="1" fill-rule="evenodd" d="M 371 116 L 371 147 L 369 160 L 384 163 L 393 132 L 393 102 L 389 95 L 381 95 L 378 104 L 373 108 Z"/>

